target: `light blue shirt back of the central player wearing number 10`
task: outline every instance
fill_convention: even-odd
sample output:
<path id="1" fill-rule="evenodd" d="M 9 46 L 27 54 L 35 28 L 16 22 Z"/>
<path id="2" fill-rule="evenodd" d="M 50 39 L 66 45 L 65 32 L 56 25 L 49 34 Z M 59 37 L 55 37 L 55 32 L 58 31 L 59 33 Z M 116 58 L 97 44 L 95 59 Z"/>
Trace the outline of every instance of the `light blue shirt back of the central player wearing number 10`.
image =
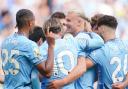
<path id="1" fill-rule="evenodd" d="M 45 54 L 43 57 L 47 59 L 47 42 L 45 42 L 40 50 Z M 63 79 L 74 68 L 77 63 L 77 46 L 76 41 L 73 39 L 56 39 L 54 48 L 54 69 L 50 78 L 43 78 L 42 89 L 46 89 L 46 86 L 50 81 Z M 75 89 L 74 83 L 64 86 L 62 89 Z"/>

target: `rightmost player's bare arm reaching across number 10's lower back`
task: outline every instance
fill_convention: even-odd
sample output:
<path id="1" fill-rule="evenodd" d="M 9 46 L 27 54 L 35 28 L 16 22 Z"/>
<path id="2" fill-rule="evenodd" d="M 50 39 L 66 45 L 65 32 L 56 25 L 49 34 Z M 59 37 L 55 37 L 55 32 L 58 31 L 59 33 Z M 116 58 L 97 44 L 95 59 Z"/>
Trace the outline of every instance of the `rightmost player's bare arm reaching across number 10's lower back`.
<path id="1" fill-rule="evenodd" d="M 80 76 L 82 76 L 88 68 L 92 67 L 93 65 L 93 62 L 90 59 L 79 57 L 78 63 L 74 67 L 74 69 L 64 79 L 52 81 L 49 84 L 48 89 L 58 89 L 64 85 L 75 81 Z"/>

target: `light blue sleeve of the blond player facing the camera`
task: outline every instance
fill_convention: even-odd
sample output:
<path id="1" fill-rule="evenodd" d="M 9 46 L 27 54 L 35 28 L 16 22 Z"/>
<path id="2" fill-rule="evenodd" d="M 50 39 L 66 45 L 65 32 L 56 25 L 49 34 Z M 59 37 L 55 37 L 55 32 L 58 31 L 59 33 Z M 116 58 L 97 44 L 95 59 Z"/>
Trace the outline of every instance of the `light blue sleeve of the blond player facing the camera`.
<path id="1" fill-rule="evenodd" d="M 87 50 L 94 50 L 100 48 L 104 41 L 103 39 L 96 33 L 80 33 L 76 37 L 76 41 L 78 44 L 78 55 L 79 56 L 87 56 Z"/>

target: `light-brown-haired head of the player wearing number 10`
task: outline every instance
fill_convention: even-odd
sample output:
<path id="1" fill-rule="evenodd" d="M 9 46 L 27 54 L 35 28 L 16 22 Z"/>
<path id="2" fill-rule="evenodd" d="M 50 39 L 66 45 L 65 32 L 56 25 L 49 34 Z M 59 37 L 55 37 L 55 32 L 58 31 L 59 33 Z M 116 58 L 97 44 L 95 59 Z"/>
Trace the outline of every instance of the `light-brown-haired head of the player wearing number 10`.
<path id="1" fill-rule="evenodd" d="M 63 30 L 62 24 L 59 19 L 57 18 L 50 18 L 48 19 L 43 26 L 44 32 L 49 30 L 49 32 L 53 32 L 54 34 L 61 34 L 61 31 Z"/>

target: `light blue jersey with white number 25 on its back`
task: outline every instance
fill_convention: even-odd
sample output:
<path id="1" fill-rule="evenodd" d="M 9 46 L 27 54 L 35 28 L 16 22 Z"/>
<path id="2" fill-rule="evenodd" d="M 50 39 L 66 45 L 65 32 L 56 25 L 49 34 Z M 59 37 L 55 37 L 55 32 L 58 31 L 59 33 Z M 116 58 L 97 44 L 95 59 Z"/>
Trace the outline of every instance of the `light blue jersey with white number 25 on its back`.
<path id="1" fill-rule="evenodd" d="M 1 57 L 5 73 L 4 89 L 32 89 L 32 69 L 43 61 L 37 44 L 15 33 L 3 42 Z"/>

